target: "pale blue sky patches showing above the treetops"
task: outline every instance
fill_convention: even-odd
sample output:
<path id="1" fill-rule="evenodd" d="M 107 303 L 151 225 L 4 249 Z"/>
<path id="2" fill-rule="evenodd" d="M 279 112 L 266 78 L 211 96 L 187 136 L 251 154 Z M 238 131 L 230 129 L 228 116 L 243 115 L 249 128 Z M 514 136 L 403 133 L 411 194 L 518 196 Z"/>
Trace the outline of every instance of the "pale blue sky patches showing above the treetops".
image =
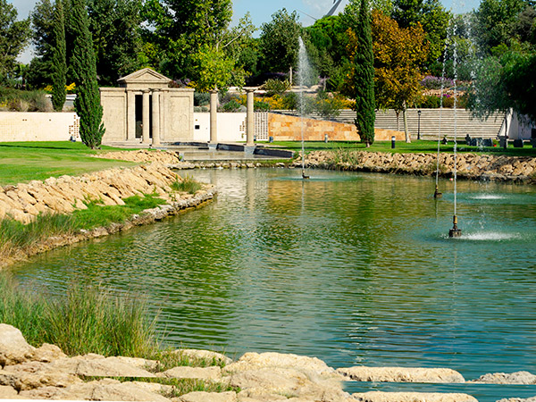
<path id="1" fill-rule="evenodd" d="M 26 18 L 33 10 L 38 0 L 7 0 L 13 4 L 19 13 L 19 18 Z M 289 4 L 286 0 L 233 0 L 233 23 L 239 21 L 247 12 L 251 14 L 251 20 L 256 27 L 260 27 L 263 22 L 272 20 L 272 14 L 282 8 L 289 12 L 294 10 L 299 15 L 299 21 L 304 25 L 312 25 L 314 19 L 322 18 L 333 5 L 332 0 L 297 0 Z M 467 13 L 478 7 L 480 0 L 441 0 L 441 3 L 453 13 Z M 344 10 L 348 0 L 343 0 L 337 12 Z M 31 59 L 31 49 L 27 49 L 21 55 L 22 63 L 29 63 Z"/>

